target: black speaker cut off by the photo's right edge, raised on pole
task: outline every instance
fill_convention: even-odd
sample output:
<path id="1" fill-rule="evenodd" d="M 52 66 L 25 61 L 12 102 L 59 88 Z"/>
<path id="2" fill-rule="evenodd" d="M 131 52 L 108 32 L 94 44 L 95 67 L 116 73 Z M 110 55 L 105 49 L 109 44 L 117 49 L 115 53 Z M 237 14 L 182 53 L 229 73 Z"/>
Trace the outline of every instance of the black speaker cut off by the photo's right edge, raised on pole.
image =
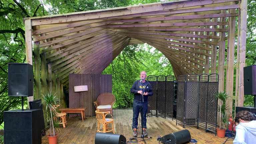
<path id="1" fill-rule="evenodd" d="M 244 94 L 256 95 L 256 65 L 244 67 Z"/>

